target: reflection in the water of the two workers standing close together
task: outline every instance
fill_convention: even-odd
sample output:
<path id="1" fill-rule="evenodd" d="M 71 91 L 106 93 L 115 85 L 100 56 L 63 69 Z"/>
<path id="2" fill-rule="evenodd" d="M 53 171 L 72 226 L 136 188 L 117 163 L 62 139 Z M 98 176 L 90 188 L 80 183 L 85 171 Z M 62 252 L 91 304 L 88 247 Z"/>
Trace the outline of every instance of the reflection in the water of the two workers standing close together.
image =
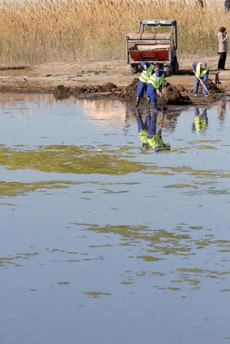
<path id="1" fill-rule="evenodd" d="M 155 151 L 170 149 L 170 144 L 163 142 L 162 127 L 157 131 L 157 115 L 156 112 L 153 112 L 151 116 L 150 110 L 146 110 L 145 121 L 143 121 L 140 113 L 136 113 L 138 136 L 142 142 L 142 150 L 147 150 L 148 148 L 153 148 Z"/>

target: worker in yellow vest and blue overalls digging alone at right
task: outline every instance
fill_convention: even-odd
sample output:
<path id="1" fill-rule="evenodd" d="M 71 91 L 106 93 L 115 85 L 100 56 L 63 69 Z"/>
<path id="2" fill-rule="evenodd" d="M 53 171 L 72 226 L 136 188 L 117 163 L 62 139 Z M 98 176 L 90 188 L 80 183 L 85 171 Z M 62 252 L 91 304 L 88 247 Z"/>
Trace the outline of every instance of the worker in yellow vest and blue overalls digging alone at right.
<path id="1" fill-rule="evenodd" d="M 207 66 L 206 62 L 193 62 L 192 65 L 193 72 L 196 75 L 195 78 L 195 85 L 194 85 L 194 96 L 197 97 L 198 93 L 198 88 L 199 88 L 199 82 L 201 80 L 201 83 L 203 84 L 202 91 L 203 95 L 207 97 L 207 81 L 208 81 L 208 72 L 209 72 L 209 67 Z M 200 80 L 199 80 L 200 79 Z M 205 87 L 206 89 L 205 89 Z"/>

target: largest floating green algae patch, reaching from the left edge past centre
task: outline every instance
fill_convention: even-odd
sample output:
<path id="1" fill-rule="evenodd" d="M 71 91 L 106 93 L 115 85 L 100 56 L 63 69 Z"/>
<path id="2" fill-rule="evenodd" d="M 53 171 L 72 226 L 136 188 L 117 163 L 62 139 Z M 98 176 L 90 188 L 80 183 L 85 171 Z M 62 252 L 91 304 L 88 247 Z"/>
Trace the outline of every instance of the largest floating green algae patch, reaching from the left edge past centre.
<path id="1" fill-rule="evenodd" d="M 8 170 L 111 175 L 139 172 L 149 167 L 125 159 L 123 152 L 128 149 L 122 147 L 98 152 L 92 146 L 49 145 L 23 150 L 0 146 L 0 165 Z"/>

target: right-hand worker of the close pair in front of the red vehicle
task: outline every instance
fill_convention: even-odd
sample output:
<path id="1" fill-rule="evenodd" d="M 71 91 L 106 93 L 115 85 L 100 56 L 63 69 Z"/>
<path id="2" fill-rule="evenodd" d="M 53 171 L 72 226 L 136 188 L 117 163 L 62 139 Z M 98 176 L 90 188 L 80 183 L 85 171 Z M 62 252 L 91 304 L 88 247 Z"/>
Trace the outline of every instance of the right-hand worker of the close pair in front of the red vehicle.
<path id="1" fill-rule="evenodd" d="M 151 99 L 153 111 L 158 111 L 157 108 L 157 89 L 159 89 L 164 81 L 164 70 L 159 64 L 154 66 L 154 74 L 147 81 L 146 97 Z"/>

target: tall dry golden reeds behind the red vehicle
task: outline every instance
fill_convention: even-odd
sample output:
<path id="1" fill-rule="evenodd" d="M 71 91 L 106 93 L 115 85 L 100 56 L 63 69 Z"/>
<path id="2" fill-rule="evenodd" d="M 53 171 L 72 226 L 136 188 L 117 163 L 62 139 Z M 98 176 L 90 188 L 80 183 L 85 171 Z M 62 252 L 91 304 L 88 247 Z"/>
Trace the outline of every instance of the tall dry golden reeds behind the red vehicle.
<path id="1" fill-rule="evenodd" d="M 230 14 L 196 0 L 38 0 L 0 4 L 0 64 L 125 58 L 140 19 L 176 19 L 180 55 L 212 55 Z"/>

